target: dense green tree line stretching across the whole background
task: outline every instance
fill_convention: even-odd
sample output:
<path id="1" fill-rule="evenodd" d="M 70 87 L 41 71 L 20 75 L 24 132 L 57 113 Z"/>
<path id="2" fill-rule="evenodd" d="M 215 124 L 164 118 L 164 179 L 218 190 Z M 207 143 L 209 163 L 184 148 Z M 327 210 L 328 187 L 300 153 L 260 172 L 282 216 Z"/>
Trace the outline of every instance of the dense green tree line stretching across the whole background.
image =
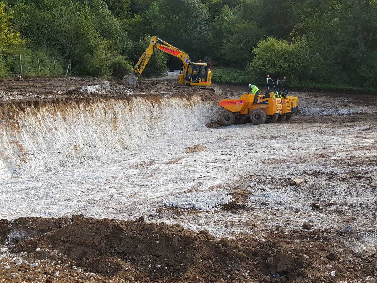
<path id="1" fill-rule="evenodd" d="M 157 35 L 251 79 L 377 87 L 376 16 L 376 0 L 5 0 L 0 52 L 53 54 L 71 58 L 77 75 L 121 77 Z M 156 52 L 146 75 L 179 64 Z"/>

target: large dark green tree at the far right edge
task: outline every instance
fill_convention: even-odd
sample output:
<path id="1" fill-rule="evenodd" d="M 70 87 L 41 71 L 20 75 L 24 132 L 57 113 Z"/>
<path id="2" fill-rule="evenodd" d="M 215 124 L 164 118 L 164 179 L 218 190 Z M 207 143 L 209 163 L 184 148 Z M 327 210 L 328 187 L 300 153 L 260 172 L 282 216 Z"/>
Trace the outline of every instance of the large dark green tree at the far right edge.
<path id="1" fill-rule="evenodd" d="M 376 1 L 307 1 L 300 13 L 292 35 L 305 35 L 312 52 L 323 58 L 320 80 L 376 86 Z"/>

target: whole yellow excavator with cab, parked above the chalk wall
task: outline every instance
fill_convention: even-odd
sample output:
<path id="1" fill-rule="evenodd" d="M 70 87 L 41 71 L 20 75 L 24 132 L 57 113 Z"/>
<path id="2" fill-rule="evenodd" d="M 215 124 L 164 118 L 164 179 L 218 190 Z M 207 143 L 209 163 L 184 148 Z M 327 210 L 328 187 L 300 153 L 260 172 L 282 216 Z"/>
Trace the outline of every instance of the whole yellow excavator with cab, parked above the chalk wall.
<path id="1" fill-rule="evenodd" d="M 141 55 L 138 63 L 135 65 L 134 71 L 130 75 L 126 75 L 123 81 L 129 83 L 130 85 L 136 85 L 138 78 L 143 73 L 144 68 L 149 62 L 150 57 L 152 57 L 155 48 L 164 51 L 174 57 L 179 58 L 182 61 L 183 74 L 178 75 L 179 85 L 189 85 L 189 86 L 210 86 L 212 80 L 211 66 L 207 63 L 194 63 L 191 62 L 189 55 L 186 52 L 170 45 L 164 40 L 153 36 L 150 40 L 149 46 Z"/>

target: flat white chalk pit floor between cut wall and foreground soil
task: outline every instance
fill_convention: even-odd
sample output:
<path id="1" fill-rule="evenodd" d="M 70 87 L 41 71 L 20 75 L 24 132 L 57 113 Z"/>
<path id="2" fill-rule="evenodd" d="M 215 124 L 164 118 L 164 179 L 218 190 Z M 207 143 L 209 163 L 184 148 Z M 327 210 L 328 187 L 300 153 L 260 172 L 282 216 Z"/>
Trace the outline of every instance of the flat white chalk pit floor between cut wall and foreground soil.
<path id="1" fill-rule="evenodd" d="M 215 236 L 247 232 L 260 238 L 264 229 L 278 225 L 295 229 L 309 221 L 314 229 L 333 231 L 352 225 L 352 233 L 363 238 L 350 240 L 349 245 L 358 251 L 375 250 L 376 116 L 350 114 L 371 113 L 375 106 L 299 96 L 306 115 L 285 123 L 182 129 L 84 160 L 74 168 L 3 181 L 0 218 L 143 215 L 150 221 L 208 229 Z M 333 105 L 332 114 L 347 115 L 318 117 L 330 109 L 319 107 L 325 103 Z M 207 151 L 185 152 L 197 144 Z M 289 185 L 294 177 L 307 183 Z M 197 199 L 205 192 L 208 198 L 211 192 L 231 194 L 234 188 L 251 191 L 247 209 L 234 214 L 222 210 L 173 214 L 164 208 L 156 213 L 161 203 L 174 201 L 177 195 Z M 316 211 L 313 202 L 335 204 Z"/>

